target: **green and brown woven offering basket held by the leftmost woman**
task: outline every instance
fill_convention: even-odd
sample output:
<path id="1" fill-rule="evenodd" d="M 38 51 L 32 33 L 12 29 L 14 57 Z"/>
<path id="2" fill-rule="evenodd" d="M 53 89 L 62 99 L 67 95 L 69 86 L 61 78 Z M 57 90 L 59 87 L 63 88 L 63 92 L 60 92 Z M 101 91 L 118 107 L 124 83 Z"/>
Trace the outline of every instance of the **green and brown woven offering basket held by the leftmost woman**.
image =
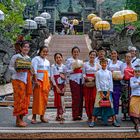
<path id="1" fill-rule="evenodd" d="M 30 70 L 31 69 L 31 59 L 17 58 L 15 62 L 16 70 Z"/>

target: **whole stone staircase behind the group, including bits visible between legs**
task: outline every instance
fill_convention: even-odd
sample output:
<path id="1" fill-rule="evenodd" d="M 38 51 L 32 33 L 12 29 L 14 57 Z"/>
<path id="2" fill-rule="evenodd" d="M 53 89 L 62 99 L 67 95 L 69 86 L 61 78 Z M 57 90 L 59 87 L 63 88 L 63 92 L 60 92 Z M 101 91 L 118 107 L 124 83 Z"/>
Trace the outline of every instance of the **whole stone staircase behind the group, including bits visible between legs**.
<path id="1" fill-rule="evenodd" d="M 63 54 L 64 60 L 71 56 L 71 49 L 73 46 L 78 46 L 81 50 L 80 58 L 82 60 L 86 60 L 88 57 L 88 43 L 87 43 L 87 35 L 53 35 L 49 44 L 49 56 L 51 64 L 54 63 L 54 54 L 56 52 L 60 52 Z M 5 87 L 5 94 L 3 94 L 3 100 L 0 100 L 0 106 L 13 106 L 13 95 L 12 95 L 12 85 L 9 84 Z M 10 89 L 10 93 L 8 91 Z M 3 92 L 4 92 L 3 90 Z M 5 96 L 7 94 L 7 96 Z M 32 107 L 33 98 L 31 96 L 30 100 L 30 108 Z M 67 85 L 66 93 L 65 93 L 65 106 L 71 107 L 71 92 L 70 87 Z M 53 90 L 50 91 L 49 99 L 48 99 L 48 108 L 54 107 L 54 93 Z"/>

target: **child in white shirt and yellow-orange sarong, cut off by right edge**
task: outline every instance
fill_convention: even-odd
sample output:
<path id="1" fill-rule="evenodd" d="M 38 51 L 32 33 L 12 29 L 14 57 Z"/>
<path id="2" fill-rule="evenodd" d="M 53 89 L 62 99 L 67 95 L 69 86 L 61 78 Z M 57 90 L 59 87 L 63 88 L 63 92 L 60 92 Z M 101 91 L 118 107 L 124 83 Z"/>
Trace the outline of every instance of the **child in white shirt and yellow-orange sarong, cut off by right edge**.
<path id="1" fill-rule="evenodd" d="M 134 68 L 135 76 L 130 79 L 131 98 L 129 115 L 135 125 L 135 129 L 139 132 L 140 124 L 140 65 Z"/>

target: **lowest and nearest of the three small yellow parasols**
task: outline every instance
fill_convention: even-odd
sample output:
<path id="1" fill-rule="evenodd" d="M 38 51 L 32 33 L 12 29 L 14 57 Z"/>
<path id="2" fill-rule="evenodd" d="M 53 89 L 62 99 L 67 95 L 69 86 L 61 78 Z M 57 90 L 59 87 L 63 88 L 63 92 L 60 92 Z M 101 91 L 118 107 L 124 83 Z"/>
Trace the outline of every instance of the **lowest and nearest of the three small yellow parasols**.
<path id="1" fill-rule="evenodd" d="M 107 21 L 98 21 L 95 25 L 94 25 L 95 30 L 110 30 L 110 24 Z"/>

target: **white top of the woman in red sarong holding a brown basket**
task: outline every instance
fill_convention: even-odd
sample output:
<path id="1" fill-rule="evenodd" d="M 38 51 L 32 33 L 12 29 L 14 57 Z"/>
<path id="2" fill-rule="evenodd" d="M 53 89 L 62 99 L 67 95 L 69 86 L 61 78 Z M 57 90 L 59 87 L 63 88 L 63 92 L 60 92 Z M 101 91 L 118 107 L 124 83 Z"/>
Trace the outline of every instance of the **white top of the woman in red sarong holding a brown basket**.
<path id="1" fill-rule="evenodd" d="M 84 63 L 84 67 L 83 67 L 84 77 L 86 74 L 95 74 L 97 70 L 98 70 L 98 66 L 96 63 L 94 63 L 94 65 L 91 65 L 89 61 Z"/>

